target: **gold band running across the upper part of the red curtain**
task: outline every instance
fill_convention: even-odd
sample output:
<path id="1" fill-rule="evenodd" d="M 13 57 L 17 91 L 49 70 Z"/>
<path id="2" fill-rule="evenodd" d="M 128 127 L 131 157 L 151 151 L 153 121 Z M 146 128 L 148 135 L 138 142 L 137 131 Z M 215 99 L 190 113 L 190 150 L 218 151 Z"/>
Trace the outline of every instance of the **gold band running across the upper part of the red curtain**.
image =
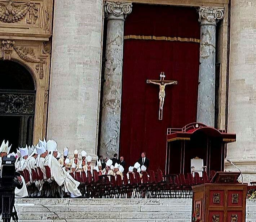
<path id="1" fill-rule="evenodd" d="M 164 40 L 164 41 L 180 41 L 180 42 L 196 42 L 200 43 L 198 38 L 181 38 L 181 37 L 166 37 L 166 36 L 139 36 L 127 35 L 124 39 L 140 39 L 140 40 Z"/>

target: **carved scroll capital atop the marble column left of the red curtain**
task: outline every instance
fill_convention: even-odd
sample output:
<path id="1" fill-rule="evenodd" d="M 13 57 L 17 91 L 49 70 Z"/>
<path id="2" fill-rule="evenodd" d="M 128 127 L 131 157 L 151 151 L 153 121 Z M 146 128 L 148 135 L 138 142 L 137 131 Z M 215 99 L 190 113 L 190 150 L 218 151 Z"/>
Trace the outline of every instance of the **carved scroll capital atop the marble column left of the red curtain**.
<path id="1" fill-rule="evenodd" d="M 132 12 L 132 3 L 106 1 L 105 12 L 108 19 L 125 19 Z"/>

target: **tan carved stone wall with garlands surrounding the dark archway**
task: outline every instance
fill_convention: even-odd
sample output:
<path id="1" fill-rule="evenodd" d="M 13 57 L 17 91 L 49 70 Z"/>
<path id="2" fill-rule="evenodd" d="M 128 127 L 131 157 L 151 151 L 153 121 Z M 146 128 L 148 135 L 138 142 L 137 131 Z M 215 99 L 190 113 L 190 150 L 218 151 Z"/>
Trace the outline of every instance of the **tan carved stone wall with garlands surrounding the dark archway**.
<path id="1" fill-rule="evenodd" d="M 34 143 L 46 132 L 52 0 L 0 1 L 0 59 L 25 66 L 35 82 Z"/>

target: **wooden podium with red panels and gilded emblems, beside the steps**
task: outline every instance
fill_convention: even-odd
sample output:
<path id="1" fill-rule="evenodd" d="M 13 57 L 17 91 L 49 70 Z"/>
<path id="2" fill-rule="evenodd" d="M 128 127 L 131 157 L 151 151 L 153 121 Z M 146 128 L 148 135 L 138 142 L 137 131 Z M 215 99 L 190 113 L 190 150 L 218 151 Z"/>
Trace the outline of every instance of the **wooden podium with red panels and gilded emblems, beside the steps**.
<path id="1" fill-rule="evenodd" d="M 200 222 L 245 222 L 247 184 L 240 173 L 217 172 L 210 184 L 193 186 L 192 219 Z"/>

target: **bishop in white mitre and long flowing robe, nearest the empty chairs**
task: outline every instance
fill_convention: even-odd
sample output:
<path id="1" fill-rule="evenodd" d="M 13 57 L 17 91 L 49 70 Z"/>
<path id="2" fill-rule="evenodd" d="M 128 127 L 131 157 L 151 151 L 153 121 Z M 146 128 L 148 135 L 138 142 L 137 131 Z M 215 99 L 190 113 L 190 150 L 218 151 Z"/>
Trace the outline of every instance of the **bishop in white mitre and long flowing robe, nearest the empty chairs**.
<path id="1" fill-rule="evenodd" d="M 59 166 L 58 160 L 56 159 L 58 150 L 57 143 L 54 140 L 47 141 L 47 149 L 49 151 L 47 157 L 47 165 L 51 169 L 51 175 L 54 181 L 62 187 L 62 191 L 65 194 L 71 196 L 71 198 L 81 196 L 81 192 L 78 190 L 80 182 L 74 180 L 74 178 Z M 73 162 L 75 163 L 75 162 Z"/>

